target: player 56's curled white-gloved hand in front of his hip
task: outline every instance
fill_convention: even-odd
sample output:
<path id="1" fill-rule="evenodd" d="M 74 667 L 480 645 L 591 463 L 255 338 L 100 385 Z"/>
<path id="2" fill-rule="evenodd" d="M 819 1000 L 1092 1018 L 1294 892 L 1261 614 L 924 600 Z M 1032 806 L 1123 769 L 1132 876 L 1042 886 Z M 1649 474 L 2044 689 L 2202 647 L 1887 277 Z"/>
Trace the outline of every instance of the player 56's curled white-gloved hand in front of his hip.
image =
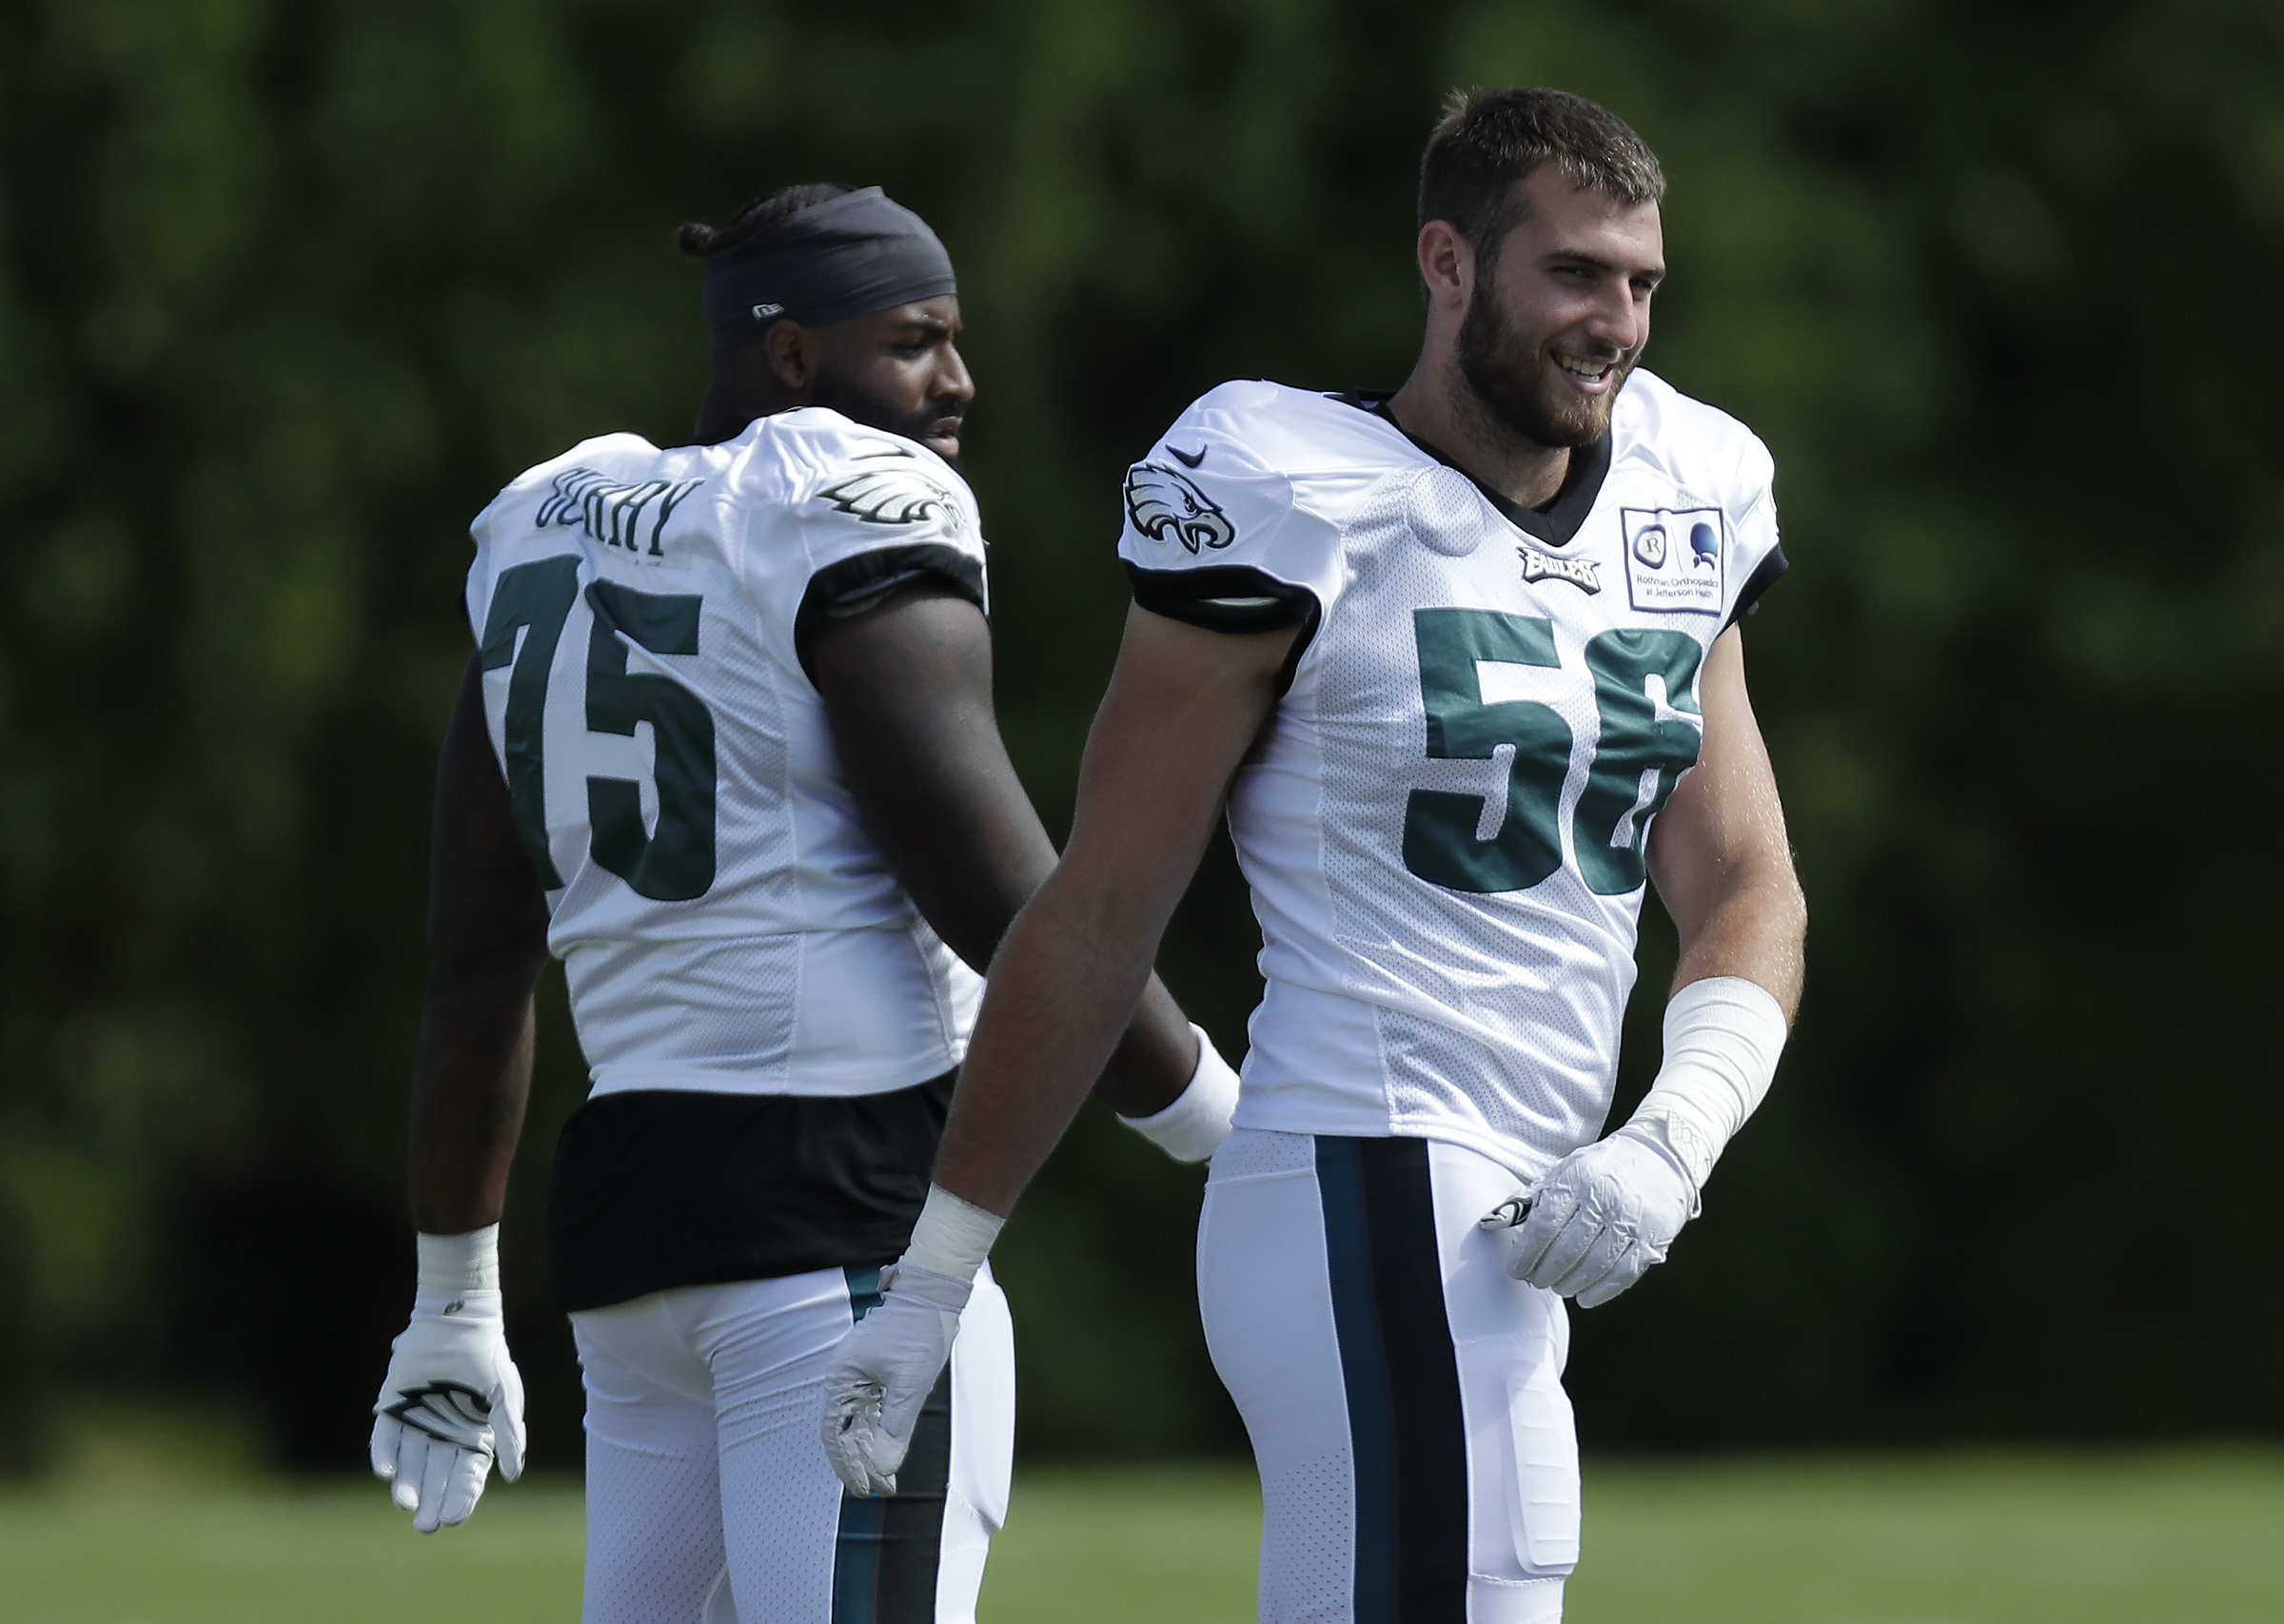
<path id="1" fill-rule="evenodd" d="M 1558 1160 L 1482 1227 L 1514 1279 L 1594 1309 L 1663 1263 L 1695 1213 L 1697 1185 L 1658 1128 L 1626 1124 Z"/>

